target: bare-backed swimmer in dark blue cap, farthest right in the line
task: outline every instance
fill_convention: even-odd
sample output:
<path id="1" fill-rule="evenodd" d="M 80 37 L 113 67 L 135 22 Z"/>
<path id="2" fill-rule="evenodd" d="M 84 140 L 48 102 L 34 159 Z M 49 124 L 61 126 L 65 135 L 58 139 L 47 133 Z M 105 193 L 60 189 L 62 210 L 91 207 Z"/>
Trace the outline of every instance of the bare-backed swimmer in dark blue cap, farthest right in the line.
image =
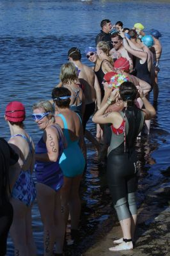
<path id="1" fill-rule="evenodd" d="M 162 54 L 162 45 L 158 38 L 162 36 L 160 32 L 156 29 L 152 29 L 150 31 L 150 35 L 153 37 L 153 46 L 151 47 L 151 51 L 153 52 L 153 65 L 155 69 L 155 81 L 153 82 L 153 102 L 157 102 L 158 100 L 158 72 L 160 70 L 159 60 Z"/>

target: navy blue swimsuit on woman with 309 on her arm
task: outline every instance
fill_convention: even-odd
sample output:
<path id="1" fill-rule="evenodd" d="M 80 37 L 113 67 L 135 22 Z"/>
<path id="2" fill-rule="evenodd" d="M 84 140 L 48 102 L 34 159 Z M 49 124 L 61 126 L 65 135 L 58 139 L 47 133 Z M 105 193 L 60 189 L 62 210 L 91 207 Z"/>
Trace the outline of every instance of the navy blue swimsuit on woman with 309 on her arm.
<path id="1" fill-rule="evenodd" d="M 55 124 L 52 125 L 52 127 L 55 127 L 59 133 L 59 155 L 56 162 L 43 162 L 43 161 L 36 161 L 35 163 L 35 175 L 36 180 L 38 183 L 45 184 L 49 186 L 50 188 L 58 191 L 61 186 L 63 185 L 63 173 L 61 171 L 61 168 L 59 167 L 59 158 L 61 157 L 61 154 L 63 153 L 63 140 L 61 138 L 61 128 L 59 125 Z M 35 147 L 35 153 L 36 154 L 46 154 L 47 153 L 47 147 L 45 142 L 43 141 L 43 136 L 38 141 L 36 147 Z"/>

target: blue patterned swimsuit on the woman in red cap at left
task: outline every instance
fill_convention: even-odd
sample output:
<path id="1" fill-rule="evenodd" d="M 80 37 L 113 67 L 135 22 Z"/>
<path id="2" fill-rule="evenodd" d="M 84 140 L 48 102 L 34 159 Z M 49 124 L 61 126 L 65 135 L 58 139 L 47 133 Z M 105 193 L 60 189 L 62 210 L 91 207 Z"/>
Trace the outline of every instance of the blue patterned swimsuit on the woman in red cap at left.
<path id="1" fill-rule="evenodd" d="M 26 136 L 24 136 L 24 134 L 15 134 L 12 137 L 16 136 L 20 136 L 27 141 L 29 145 L 29 154 L 32 154 L 33 146 L 31 143 L 31 138 L 29 140 Z M 25 160 L 25 163 L 26 161 L 27 159 Z M 23 204 L 27 206 L 33 204 L 36 198 L 36 189 L 35 182 L 33 180 L 30 170 L 21 170 L 19 177 L 15 182 L 15 185 L 13 186 L 12 197 L 20 200 Z"/>

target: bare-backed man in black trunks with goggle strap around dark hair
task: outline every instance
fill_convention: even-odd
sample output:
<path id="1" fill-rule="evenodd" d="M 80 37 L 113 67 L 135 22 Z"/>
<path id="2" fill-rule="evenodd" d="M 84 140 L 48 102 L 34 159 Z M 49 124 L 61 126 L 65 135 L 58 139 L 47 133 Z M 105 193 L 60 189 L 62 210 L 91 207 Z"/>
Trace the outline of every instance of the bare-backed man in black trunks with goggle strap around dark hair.
<path id="1" fill-rule="evenodd" d="M 100 150 L 100 144 L 97 140 L 92 136 L 91 132 L 86 130 L 86 124 L 91 115 L 93 115 L 95 111 L 95 100 L 97 91 L 95 90 L 95 72 L 92 68 L 82 64 L 81 62 L 81 51 L 76 48 L 72 47 L 68 51 L 68 60 L 73 62 L 76 65 L 80 72 L 79 72 L 79 81 L 84 86 L 84 102 L 85 102 L 85 111 L 84 116 L 82 118 L 82 126 L 84 129 L 84 134 L 86 138 L 91 141 L 97 147 L 97 150 Z M 86 132 L 85 132 L 86 131 Z"/>

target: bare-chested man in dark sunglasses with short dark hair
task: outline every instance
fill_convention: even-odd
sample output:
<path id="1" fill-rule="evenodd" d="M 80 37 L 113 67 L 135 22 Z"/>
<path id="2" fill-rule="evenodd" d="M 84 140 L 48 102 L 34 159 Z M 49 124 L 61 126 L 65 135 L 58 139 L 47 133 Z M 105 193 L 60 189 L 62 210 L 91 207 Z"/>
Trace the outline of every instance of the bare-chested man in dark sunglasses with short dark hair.
<path id="1" fill-rule="evenodd" d="M 111 35 L 111 41 L 113 45 L 113 49 L 116 50 L 117 58 L 124 57 L 130 63 L 130 72 L 133 70 L 133 61 L 132 61 L 132 54 L 128 53 L 128 51 L 123 46 L 123 40 L 118 33 L 114 33 Z M 111 50 L 112 51 L 112 50 Z"/>

